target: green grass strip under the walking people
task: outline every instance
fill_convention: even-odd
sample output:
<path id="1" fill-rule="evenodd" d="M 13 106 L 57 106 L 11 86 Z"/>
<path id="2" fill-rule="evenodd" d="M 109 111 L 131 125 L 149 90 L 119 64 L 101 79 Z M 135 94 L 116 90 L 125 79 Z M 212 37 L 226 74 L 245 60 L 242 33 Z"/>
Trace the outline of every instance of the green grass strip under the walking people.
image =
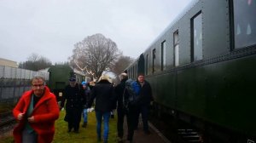
<path id="1" fill-rule="evenodd" d="M 95 112 L 88 113 L 88 123 L 86 128 L 81 127 L 83 119 L 81 120 L 79 134 L 73 132 L 67 133 L 67 122 L 64 121 L 65 111 L 61 111 L 60 113 L 60 118 L 55 122 L 55 137 L 53 143 L 97 143 Z M 0 140 L 1 143 L 10 143 L 13 141 L 13 137 L 7 136 Z M 108 142 L 117 142 L 117 116 L 109 119 Z"/>

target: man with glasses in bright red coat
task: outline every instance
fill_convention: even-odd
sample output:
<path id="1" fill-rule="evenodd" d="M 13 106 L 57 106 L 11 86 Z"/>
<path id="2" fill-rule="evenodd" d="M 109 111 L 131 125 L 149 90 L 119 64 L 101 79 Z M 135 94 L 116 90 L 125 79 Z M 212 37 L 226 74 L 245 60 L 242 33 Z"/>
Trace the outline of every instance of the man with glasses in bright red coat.
<path id="1" fill-rule="evenodd" d="M 50 93 L 44 77 L 32 78 L 32 89 L 20 97 L 13 110 L 19 121 L 14 129 L 16 143 L 48 143 L 55 134 L 55 120 L 59 117 L 59 107 L 55 94 Z"/>

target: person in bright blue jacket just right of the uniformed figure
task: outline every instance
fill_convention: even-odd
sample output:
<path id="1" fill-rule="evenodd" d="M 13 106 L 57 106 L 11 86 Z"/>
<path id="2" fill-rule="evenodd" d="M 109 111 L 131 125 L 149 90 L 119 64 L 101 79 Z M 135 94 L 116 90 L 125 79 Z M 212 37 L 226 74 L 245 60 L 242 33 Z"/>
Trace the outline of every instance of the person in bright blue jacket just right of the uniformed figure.
<path id="1" fill-rule="evenodd" d="M 85 83 L 85 82 L 82 82 L 82 85 L 83 85 L 83 89 L 84 89 L 84 110 L 83 110 L 83 119 L 84 119 L 84 123 L 82 125 L 83 128 L 86 128 L 87 127 L 87 120 L 88 120 L 88 108 L 87 108 L 87 105 L 86 105 L 86 102 L 90 99 L 90 89 L 89 89 L 89 83 Z"/>

